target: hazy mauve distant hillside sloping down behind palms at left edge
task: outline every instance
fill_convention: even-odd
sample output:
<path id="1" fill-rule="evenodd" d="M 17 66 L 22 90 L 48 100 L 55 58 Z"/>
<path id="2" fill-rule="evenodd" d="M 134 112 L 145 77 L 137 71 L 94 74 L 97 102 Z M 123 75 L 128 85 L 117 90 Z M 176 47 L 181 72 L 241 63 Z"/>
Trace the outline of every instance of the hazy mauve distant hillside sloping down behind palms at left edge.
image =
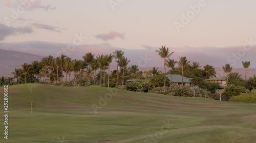
<path id="1" fill-rule="evenodd" d="M 0 76 L 12 76 L 11 72 L 24 63 L 40 60 L 42 57 L 29 53 L 0 49 Z"/>

